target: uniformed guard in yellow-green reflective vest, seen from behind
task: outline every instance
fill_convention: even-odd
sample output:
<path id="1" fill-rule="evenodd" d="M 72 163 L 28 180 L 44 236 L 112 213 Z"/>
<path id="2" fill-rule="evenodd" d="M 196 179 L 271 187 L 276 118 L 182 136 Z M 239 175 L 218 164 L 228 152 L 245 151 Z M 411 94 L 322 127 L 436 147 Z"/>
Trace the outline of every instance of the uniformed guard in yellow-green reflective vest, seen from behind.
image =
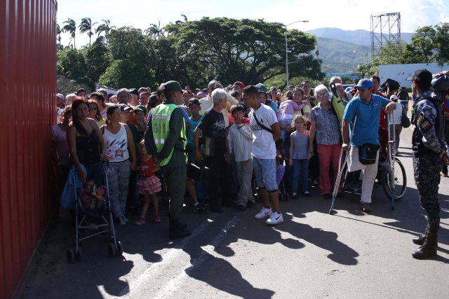
<path id="1" fill-rule="evenodd" d="M 170 197 L 170 239 L 176 239 L 191 234 L 187 225 L 180 223 L 187 180 L 187 139 L 184 116 L 177 105 L 182 104 L 184 91 L 177 81 L 164 83 L 162 91 L 166 102 L 156 106 L 148 117 L 145 146 L 159 162 L 166 181 Z"/>

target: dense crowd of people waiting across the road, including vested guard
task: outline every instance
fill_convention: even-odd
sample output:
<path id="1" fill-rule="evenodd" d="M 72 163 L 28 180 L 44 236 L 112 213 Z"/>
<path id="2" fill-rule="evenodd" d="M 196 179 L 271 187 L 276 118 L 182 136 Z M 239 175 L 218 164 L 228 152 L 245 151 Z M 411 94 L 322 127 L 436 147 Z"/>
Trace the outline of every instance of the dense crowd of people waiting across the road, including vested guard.
<path id="1" fill-rule="evenodd" d="M 330 198 L 337 181 L 342 196 L 343 180 L 337 174 L 344 150 L 352 172 L 347 185 L 360 190 L 361 209 L 370 213 L 388 129 L 396 132 L 399 153 L 408 93 L 387 85 L 382 94 L 378 76 L 346 89 L 339 77 L 330 83 L 337 95 L 325 85 L 312 89 L 309 81 L 281 92 L 241 81 L 223 87 L 216 80 L 196 89 L 168 81 L 154 92 L 122 88 L 116 95 L 103 89 L 88 95 L 81 88 L 58 94 L 54 160 L 62 183 L 69 165 L 83 183 L 102 186 L 107 178 L 112 213 L 122 225 L 128 222 L 127 207 L 140 207 L 135 225 L 144 224 L 150 202 L 152 220 L 160 222 L 159 202 L 165 194 L 170 238 L 177 238 L 190 235 L 188 225 L 180 222 L 186 191 L 192 209 L 205 214 L 207 209 L 220 213 L 223 206 L 245 211 L 255 204 L 257 190 L 262 207 L 255 218 L 267 218 L 268 225 L 283 222 L 281 181 L 293 199 L 310 196 L 310 186 Z M 331 105 L 335 96 L 345 106 L 342 119 Z M 360 162 L 367 144 L 379 148 L 372 164 Z M 359 172 L 363 181 L 358 181 Z"/>

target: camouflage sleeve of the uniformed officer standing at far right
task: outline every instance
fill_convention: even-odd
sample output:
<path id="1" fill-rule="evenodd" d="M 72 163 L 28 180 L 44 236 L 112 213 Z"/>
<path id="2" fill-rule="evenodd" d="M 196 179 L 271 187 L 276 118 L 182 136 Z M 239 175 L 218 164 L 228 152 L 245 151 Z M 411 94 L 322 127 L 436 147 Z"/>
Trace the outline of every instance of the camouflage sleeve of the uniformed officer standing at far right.
<path id="1" fill-rule="evenodd" d="M 427 101 L 417 105 L 416 127 L 422 134 L 422 144 L 435 153 L 441 152 L 441 142 L 436 137 L 436 109 Z"/>

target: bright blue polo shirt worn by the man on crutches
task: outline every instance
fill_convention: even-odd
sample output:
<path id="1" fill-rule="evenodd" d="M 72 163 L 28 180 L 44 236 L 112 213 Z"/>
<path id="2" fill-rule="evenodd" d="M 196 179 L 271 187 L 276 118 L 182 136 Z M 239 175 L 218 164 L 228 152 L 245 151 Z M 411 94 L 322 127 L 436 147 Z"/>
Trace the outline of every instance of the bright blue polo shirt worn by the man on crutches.
<path id="1" fill-rule="evenodd" d="M 354 121 L 357 115 L 356 127 L 351 139 L 351 146 L 363 144 L 379 144 L 380 111 L 387 106 L 389 100 L 380 95 L 371 95 L 370 104 L 363 102 L 358 96 L 351 99 L 344 109 L 343 119 Z M 349 125 L 349 136 L 352 126 Z"/>

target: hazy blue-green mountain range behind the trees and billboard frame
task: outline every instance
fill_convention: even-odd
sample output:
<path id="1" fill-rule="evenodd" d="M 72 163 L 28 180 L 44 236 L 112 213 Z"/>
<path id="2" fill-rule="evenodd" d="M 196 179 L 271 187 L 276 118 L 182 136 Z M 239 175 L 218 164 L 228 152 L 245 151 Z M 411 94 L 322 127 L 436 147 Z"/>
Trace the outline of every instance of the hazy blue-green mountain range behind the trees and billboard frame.
<path id="1" fill-rule="evenodd" d="M 318 41 L 319 58 L 323 60 L 321 70 L 342 73 L 354 71 L 358 64 L 371 59 L 371 34 L 369 31 L 343 30 L 323 27 L 307 31 Z M 401 41 L 410 43 L 413 33 L 401 33 Z M 356 52 L 354 52 L 356 50 Z"/>

